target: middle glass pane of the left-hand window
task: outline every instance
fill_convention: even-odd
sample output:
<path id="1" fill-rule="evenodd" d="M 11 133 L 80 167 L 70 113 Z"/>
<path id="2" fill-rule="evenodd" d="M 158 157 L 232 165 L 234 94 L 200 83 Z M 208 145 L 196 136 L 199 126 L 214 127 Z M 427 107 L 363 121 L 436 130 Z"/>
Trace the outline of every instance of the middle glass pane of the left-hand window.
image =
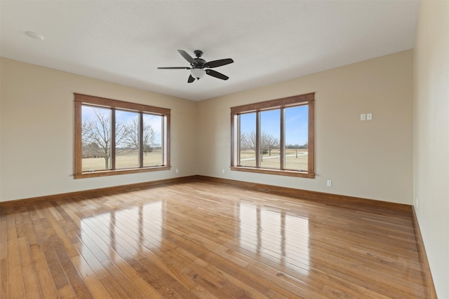
<path id="1" fill-rule="evenodd" d="M 116 110 L 115 167 L 139 167 L 139 113 Z"/>

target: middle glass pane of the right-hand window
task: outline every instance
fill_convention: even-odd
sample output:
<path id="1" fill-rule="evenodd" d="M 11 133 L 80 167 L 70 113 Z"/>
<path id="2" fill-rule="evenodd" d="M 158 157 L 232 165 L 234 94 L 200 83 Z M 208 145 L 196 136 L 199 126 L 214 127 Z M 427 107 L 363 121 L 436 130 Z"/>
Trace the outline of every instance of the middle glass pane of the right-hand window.
<path id="1" fill-rule="evenodd" d="M 281 153 L 281 110 L 262 111 L 260 113 L 260 167 L 279 169 Z"/>

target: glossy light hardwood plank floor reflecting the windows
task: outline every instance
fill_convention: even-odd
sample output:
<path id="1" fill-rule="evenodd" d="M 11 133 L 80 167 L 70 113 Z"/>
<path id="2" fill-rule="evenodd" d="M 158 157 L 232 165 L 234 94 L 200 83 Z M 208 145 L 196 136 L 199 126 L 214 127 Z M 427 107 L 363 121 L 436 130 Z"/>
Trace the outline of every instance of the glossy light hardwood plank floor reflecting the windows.
<path id="1" fill-rule="evenodd" d="M 330 202 L 329 202 L 330 203 Z M 0 298 L 426 298 L 411 213 L 210 181 L 5 206 Z"/>

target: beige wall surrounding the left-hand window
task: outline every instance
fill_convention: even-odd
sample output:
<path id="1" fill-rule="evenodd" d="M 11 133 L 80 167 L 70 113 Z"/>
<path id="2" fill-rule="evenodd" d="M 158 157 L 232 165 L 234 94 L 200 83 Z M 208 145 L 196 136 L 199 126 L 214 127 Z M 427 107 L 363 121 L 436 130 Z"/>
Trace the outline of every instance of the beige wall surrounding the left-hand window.
<path id="1" fill-rule="evenodd" d="M 195 102 L 4 58 L 0 66 L 1 201 L 197 174 Z M 172 169 L 73 179 L 74 92 L 172 109 Z"/>

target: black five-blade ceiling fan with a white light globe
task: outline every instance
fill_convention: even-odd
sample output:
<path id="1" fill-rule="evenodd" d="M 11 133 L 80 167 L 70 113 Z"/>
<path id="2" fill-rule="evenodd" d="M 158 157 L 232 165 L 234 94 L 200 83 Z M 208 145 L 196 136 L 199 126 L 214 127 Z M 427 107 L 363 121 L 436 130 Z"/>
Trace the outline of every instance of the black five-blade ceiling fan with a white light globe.
<path id="1" fill-rule="evenodd" d="M 195 79 L 199 80 L 203 78 L 205 74 L 222 80 L 229 79 L 228 76 L 225 76 L 218 71 L 214 71 L 213 68 L 234 62 L 231 58 L 206 62 L 206 60 L 200 58 L 203 55 L 203 51 L 201 50 L 194 50 L 196 58 L 190 56 L 185 50 L 177 50 L 177 52 L 189 62 L 190 67 L 158 67 L 158 69 L 190 69 L 190 76 L 187 79 L 187 83 L 192 83 Z"/>

